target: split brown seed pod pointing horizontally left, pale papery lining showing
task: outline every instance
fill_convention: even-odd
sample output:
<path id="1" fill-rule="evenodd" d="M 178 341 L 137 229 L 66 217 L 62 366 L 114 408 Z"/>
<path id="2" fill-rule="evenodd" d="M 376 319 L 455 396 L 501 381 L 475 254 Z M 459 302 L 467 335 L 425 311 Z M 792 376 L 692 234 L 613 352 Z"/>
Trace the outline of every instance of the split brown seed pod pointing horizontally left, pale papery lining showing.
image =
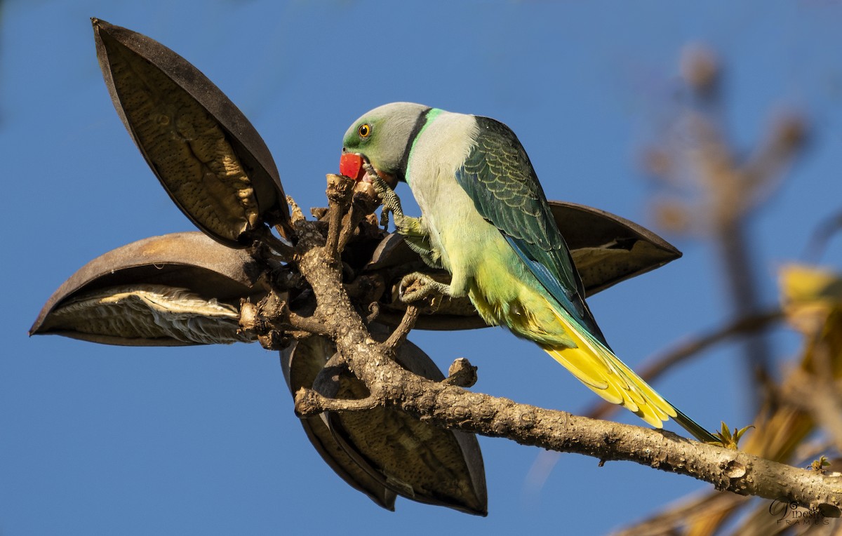
<path id="1" fill-rule="evenodd" d="M 263 272 L 246 252 L 200 232 L 153 236 L 80 268 L 29 334 L 123 346 L 251 342 L 239 332 L 240 299 L 265 295 Z"/>

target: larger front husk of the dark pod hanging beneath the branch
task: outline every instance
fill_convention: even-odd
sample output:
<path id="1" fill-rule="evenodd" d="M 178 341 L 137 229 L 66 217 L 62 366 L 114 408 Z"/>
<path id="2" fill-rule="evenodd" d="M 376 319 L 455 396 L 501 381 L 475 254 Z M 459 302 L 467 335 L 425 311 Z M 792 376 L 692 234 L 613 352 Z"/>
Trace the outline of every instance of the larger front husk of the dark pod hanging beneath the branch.
<path id="1" fill-rule="evenodd" d="M 412 342 L 402 344 L 396 361 L 427 379 L 444 379 L 427 354 Z M 338 354 L 318 374 L 313 389 L 339 399 L 369 394 Z M 473 434 L 435 427 L 383 407 L 327 412 L 322 419 L 345 453 L 398 495 L 461 512 L 488 514 L 485 470 Z"/>

